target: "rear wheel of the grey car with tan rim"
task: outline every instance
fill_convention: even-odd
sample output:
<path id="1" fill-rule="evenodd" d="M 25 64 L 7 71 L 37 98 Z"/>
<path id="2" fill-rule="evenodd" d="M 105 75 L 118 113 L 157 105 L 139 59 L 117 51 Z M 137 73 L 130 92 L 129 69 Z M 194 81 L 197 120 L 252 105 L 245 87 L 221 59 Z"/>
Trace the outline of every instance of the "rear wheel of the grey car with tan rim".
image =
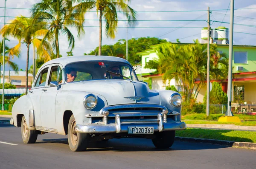
<path id="1" fill-rule="evenodd" d="M 21 120 L 21 136 L 24 143 L 35 143 L 38 131 L 37 130 L 29 130 L 27 121 L 25 116 L 22 117 Z"/>

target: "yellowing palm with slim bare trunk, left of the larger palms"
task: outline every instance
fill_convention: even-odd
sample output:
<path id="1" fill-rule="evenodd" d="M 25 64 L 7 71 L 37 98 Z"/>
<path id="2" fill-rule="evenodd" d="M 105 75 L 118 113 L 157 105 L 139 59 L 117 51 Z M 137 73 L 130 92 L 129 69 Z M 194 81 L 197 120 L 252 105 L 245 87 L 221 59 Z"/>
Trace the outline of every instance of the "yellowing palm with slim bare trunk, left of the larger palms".
<path id="1" fill-rule="evenodd" d="M 17 48 L 20 48 L 21 41 L 26 44 L 26 94 L 28 89 L 29 47 L 33 42 L 37 41 L 37 36 L 45 36 L 47 30 L 45 30 L 44 26 L 42 25 L 45 25 L 45 23 L 33 25 L 33 19 L 20 16 L 16 17 L 14 20 L 11 20 L 9 24 L 5 25 L 1 29 L 1 34 L 3 37 L 12 36 L 19 40 L 18 45 L 16 45 Z"/>

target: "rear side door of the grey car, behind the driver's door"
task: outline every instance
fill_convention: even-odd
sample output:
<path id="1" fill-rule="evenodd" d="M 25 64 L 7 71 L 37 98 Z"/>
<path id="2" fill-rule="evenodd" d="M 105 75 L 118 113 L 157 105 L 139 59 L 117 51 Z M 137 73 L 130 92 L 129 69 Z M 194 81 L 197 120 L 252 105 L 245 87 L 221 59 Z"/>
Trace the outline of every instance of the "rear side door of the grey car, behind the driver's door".
<path id="1" fill-rule="evenodd" d="M 35 83 L 33 83 L 31 90 L 29 90 L 29 96 L 31 98 L 33 107 L 34 107 L 34 115 L 35 115 L 35 126 L 42 126 L 41 122 L 41 113 L 40 113 L 40 100 L 41 94 L 43 93 L 43 89 L 47 80 L 49 66 L 46 66 L 38 72 L 35 77 Z"/>

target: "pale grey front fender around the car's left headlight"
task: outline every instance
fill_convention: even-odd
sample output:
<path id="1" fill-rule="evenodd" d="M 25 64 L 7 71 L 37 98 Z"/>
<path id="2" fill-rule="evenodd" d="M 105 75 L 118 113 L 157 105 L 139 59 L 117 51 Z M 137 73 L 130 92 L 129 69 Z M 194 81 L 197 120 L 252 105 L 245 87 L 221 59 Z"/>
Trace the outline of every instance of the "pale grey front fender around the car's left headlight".
<path id="1" fill-rule="evenodd" d="M 88 94 L 93 94 L 94 96 L 96 96 L 96 99 L 98 101 L 96 107 L 92 110 L 86 109 L 83 104 L 83 99 Z M 65 111 L 72 111 L 76 119 L 76 124 L 83 125 L 89 123 L 89 118 L 85 117 L 85 115 L 99 113 L 99 111 L 106 106 L 108 106 L 106 99 L 96 93 L 67 90 L 62 90 L 58 92 L 55 104 L 55 119 L 58 132 L 65 135 L 63 121 Z"/>

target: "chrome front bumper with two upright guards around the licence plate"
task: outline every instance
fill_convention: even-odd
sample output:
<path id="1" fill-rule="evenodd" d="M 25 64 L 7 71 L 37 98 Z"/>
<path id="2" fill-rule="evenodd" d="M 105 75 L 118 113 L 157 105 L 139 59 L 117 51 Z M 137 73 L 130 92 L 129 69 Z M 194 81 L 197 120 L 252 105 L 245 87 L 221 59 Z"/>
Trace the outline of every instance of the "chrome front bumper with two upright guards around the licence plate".
<path id="1" fill-rule="evenodd" d="M 81 133 L 121 133 L 128 132 L 128 127 L 154 127 L 154 132 L 163 132 L 169 130 L 185 130 L 184 122 L 163 122 L 163 114 L 159 113 L 157 122 L 122 122 L 120 115 L 116 115 L 115 124 L 76 124 L 76 132 Z"/>

